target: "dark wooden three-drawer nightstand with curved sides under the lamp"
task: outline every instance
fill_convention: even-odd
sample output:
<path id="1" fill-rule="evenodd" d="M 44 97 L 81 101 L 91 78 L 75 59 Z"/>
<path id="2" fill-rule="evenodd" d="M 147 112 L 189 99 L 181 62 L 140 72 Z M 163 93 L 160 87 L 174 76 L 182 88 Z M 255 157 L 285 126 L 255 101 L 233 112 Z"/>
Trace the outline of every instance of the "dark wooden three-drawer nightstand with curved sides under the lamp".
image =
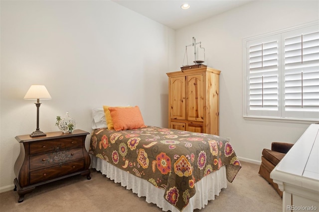
<path id="1" fill-rule="evenodd" d="M 36 186 L 74 175 L 86 175 L 90 180 L 91 158 L 85 149 L 86 131 L 73 133 L 48 132 L 46 136 L 19 135 L 20 154 L 14 164 L 14 191 L 19 195 L 32 192 Z"/>

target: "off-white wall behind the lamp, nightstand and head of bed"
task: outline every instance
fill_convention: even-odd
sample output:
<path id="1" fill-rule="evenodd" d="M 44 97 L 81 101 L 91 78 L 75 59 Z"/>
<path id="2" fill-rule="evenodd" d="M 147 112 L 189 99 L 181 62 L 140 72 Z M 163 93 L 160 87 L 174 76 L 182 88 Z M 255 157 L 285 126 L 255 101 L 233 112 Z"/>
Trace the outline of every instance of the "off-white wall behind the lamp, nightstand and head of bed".
<path id="1" fill-rule="evenodd" d="M 91 132 L 91 109 L 140 106 L 148 125 L 167 126 L 167 76 L 174 31 L 112 1 L 0 1 L 0 191 L 12 189 L 16 135 L 36 128 L 32 84 L 41 101 L 40 130 L 58 131 L 69 111 Z M 164 114 L 164 115 L 163 115 Z M 89 146 L 87 136 L 86 146 Z"/>

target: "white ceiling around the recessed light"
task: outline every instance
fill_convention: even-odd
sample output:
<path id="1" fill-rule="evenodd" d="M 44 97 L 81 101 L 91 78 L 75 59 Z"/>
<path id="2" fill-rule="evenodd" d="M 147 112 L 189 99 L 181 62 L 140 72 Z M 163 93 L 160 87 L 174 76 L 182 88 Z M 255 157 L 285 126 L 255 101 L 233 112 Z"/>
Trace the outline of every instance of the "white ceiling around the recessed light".
<path id="1" fill-rule="evenodd" d="M 172 29 L 178 29 L 253 0 L 113 0 Z M 183 3 L 189 9 L 181 9 Z"/>

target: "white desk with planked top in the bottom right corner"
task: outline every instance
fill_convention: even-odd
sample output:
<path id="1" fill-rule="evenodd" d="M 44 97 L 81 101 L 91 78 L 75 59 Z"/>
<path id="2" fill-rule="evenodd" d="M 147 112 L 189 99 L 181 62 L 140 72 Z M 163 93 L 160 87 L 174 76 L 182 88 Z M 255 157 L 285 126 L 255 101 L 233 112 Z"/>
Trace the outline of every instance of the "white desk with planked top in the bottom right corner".
<path id="1" fill-rule="evenodd" d="M 307 128 L 270 177 L 283 191 L 283 212 L 319 211 L 319 124 Z"/>

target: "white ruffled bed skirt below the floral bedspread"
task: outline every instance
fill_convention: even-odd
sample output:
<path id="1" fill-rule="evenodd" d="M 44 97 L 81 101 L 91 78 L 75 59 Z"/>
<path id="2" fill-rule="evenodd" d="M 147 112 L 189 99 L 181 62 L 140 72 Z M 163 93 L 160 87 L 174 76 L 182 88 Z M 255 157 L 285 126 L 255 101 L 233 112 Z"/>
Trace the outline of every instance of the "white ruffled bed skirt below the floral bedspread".
<path id="1" fill-rule="evenodd" d="M 165 190 L 159 189 L 148 181 L 123 171 L 105 160 L 95 156 L 91 156 L 91 158 L 92 168 L 101 171 L 103 175 L 114 180 L 115 183 L 121 183 L 121 186 L 128 190 L 132 189 L 138 197 L 146 197 L 146 202 L 156 204 L 162 211 L 179 212 L 177 208 L 164 200 Z M 195 195 L 190 198 L 188 205 L 182 212 L 192 212 L 194 209 L 205 208 L 208 201 L 214 200 L 215 195 L 218 196 L 222 188 L 227 188 L 225 166 L 196 182 L 195 188 Z"/>

